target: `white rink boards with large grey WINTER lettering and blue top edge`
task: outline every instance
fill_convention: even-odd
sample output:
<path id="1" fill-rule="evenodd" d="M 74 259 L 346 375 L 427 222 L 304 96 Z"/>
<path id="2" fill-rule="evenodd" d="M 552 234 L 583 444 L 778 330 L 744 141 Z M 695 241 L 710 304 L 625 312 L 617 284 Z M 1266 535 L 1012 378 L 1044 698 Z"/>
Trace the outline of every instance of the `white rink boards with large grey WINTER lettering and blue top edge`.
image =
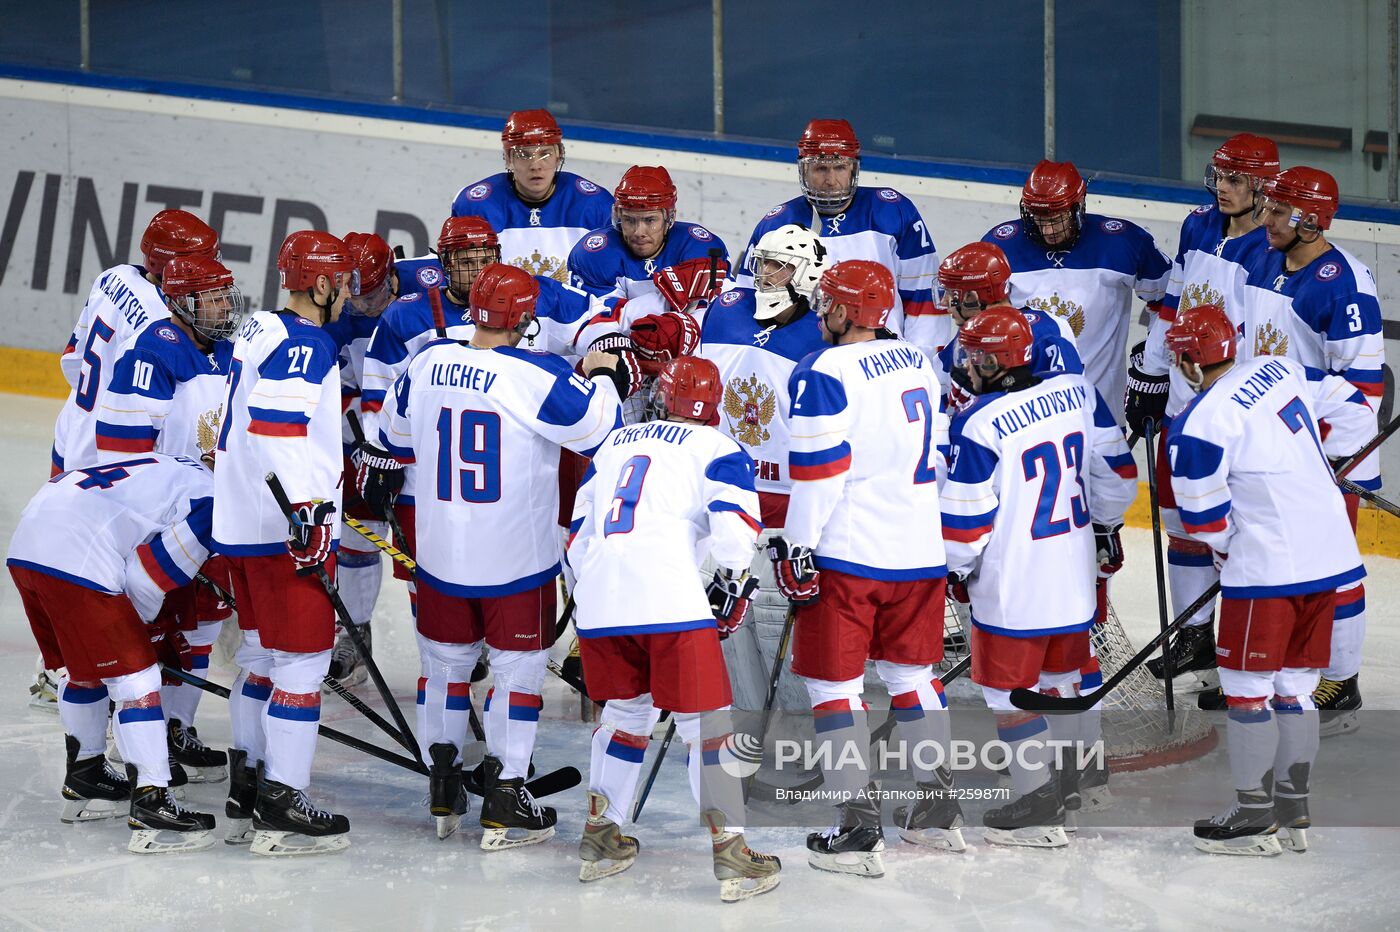
<path id="1" fill-rule="evenodd" d="M 218 230 L 224 262 L 258 309 L 277 301 L 273 256 L 291 230 L 372 230 L 410 253 L 423 250 L 456 192 L 501 169 L 498 129 L 477 118 L 129 87 L 0 78 L 3 346 L 62 350 L 92 277 L 139 260 L 141 230 L 162 207 L 193 210 Z M 608 188 L 629 165 L 666 165 L 680 218 L 717 232 L 735 260 L 762 214 L 797 193 L 792 151 L 780 147 L 598 129 L 566 127 L 566 136 L 567 167 Z M 861 182 L 910 196 L 946 253 L 1015 217 L 1019 197 L 1019 174 L 956 174 L 869 158 Z M 1190 210 L 1179 190 L 1091 179 L 1089 195 L 1091 211 L 1147 227 L 1175 255 Z M 1204 199 L 1201 192 L 1196 200 Z M 1400 336 L 1400 225 L 1379 220 L 1337 220 L 1331 238 L 1375 271 L 1387 334 Z M 1390 360 L 1400 358 L 1400 341 L 1386 347 Z M 1396 451 L 1386 474 L 1394 487 Z"/>

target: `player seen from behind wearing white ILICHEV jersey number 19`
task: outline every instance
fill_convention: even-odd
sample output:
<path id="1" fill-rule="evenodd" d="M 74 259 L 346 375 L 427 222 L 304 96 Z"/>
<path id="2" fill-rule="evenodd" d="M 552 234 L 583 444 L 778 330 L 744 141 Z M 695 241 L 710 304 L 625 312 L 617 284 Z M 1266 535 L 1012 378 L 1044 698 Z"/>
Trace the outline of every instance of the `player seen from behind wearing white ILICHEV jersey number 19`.
<path id="1" fill-rule="evenodd" d="M 554 642 L 563 546 L 559 448 L 589 456 L 619 418 L 626 375 L 617 357 L 591 353 L 577 375 L 563 358 L 518 348 L 535 326 L 540 280 L 491 264 L 472 283 L 470 341 L 424 347 L 385 403 L 370 470 L 419 463 L 414 514 L 419 582 L 419 740 L 433 763 L 431 809 L 440 835 L 455 830 L 470 675 L 490 648 L 482 848 L 545 841 L 554 810 L 525 788 Z M 391 459 L 392 456 L 392 459 Z M 368 479 L 368 473 L 367 473 Z M 392 490 L 377 476 L 365 483 Z"/>

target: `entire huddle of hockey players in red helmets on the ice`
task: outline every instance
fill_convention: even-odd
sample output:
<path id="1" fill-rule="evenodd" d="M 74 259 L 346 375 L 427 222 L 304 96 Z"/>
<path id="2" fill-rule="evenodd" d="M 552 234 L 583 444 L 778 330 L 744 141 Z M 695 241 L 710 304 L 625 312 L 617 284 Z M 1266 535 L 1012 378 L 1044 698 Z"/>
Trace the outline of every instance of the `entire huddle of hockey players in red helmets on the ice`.
<path id="1" fill-rule="evenodd" d="M 171 788 L 227 770 L 228 842 L 344 848 L 346 816 L 307 795 L 321 691 L 365 679 L 375 542 L 392 537 L 416 560 L 395 574 L 440 837 L 469 791 L 489 851 L 554 831 L 526 781 L 563 575 L 603 704 L 582 880 L 634 862 L 622 826 L 668 712 L 721 896 L 777 886 L 777 858 L 745 844 L 717 714 L 773 702 L 790 633 L 788 689 L 805 687 L 819 740 L 868 746 L 874 661 L 896 739 L 946 743 L 948 596 L 970 603 L 972 679 L 1019 751 L 986 838 L 1064 845 L 1067 810 L 1102 802 L 1107 772 L 1057 768 L 1044 737 L 1093 742 L 1096 715 L 1047 721 L 1009 697 L 1100 683 L 1089 628 L 1123 561 L 1130 428 L 1163 438 L 1173 602 L 1222 584 L 1218 647 L 1207 607 L 1170 648 L 1196 676 L 1219 658 L 1231 709 L 1238 799 L 1197 844 L 1274 854 L 1280 827 L 1306 844 L 1319 723 L 1291 712 L 1316 693 L 1344 729 L 1359 707 L 1355 501 L 1327 460 L 1373 432 L 1382 365 L 1371 274 L 1324 238 L 1329 175 L 1228 140 L 1172 262 L 1086 213 L 1074 165 L 1042 162 L 1019 220 L 939 262 L 907 197 L 860 186 L 850 125 L 818 119 L 798 141 L 802 193 L 731 267 L 713 232 L 676 220 L 665 168 L 630 168 L 609 193 L 563 171 L 545 111 L 512 113 L 503 143 L 507 171 L 462 189 L 435 256 L 291 234 L 281 311 L 241 318 L 216 232 L 178 210 L 151 221 L 144 264 L 98 277 L 63 357 L 53 479 L 8 554 L 45 666 L 66 668 L 66 821 L 125 813 L 133 851 L 207 847 L 214 817 Z M 1134 295 L 1152 322 L 1130 372 Z M 1378 487 L 1375 458 L 1351 477 Z M 160 665 L 202 675 L 234 606 L 224 754 L 192 726 L 200 693 Z M 105 757 L 109 701 L 125 777 Z M 473 730 L 486 757 L 463 774 Z M 868 770 L 823 777 L 844 802 L 808 837 L 812 866 L 881 875 Z M 900 835 L 962 849 L 951 770 L 916 777 Z"/>

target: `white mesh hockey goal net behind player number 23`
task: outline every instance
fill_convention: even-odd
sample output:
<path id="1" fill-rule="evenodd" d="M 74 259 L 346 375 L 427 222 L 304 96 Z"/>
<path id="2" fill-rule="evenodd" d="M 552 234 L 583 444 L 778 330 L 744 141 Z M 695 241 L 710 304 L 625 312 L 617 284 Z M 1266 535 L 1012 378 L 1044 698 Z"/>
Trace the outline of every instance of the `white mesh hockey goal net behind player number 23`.
<path id="1" fill-rule="evenodd" d="M 951 669 L 967 656 L 969 628 L 966 609 L 953 599 L 944 613 L 944 663 Z M 1113 603 L 1107 619 L 1091 628 L 1093 652 L 1099 658 L 1103 679 L 1117 673 L 1137 654 L 1128 640 Z M 1131 772 L 1194 760 L 1215 747 L 1215 728 L 1196 708 L 1166 712 L 1166 693 L 1147 665 L 1138 666 L 1109 693 L 1102 708 L 1103 743 L 1109 768 Z"/>

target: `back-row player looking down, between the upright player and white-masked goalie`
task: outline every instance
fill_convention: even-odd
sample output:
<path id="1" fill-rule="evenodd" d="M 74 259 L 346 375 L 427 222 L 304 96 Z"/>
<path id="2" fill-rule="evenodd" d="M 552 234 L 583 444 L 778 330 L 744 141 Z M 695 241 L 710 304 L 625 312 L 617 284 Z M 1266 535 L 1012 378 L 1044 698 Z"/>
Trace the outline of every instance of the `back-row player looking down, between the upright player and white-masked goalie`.
<path id="1" fill-rule="evenodd" d="M 687 259 L 701 259 L 724 242 L 700 224 L 676 220 L 676 186 L 659 165 L 633 165 L 613 192 L 610 225 L 594 230 L 568 253 L 575 288 L 595 295 L 638 298 L 652 294 L 652 274 Z"/>

